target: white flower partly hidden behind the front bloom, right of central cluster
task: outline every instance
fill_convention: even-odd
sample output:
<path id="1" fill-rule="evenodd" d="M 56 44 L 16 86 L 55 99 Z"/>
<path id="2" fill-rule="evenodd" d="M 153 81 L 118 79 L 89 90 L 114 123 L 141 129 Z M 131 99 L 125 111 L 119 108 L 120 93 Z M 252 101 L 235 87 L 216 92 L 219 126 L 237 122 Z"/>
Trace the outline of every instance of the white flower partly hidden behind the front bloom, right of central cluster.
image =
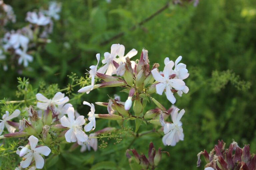
<path id="1" fill-rule="evenodd" d="M 176 74 L 175 78 L 176 79 L 181 79 L 184 80 L 186 78 L 188 78 L 189 73 L 188 70 L 186 69 L 186 64 L 183 63 L 179 63 L 182 59 L 182 56 L 179 56 L 176 60 L 175 60 L 175 67 L 174 70 L 171 71 L 171 74 Z M 166 57 L 164 59 L 164 63 L 167 64 L 170 61 L 170 59 L 168 57 Z M 179 64 L 178 64 L 179 63 Z M 185 88 L 183 90 L 178 90 L 178 95 L 182 96 L 182 93 L 188 93 L 189 88 L 187 86 L 185 86 Z"/>

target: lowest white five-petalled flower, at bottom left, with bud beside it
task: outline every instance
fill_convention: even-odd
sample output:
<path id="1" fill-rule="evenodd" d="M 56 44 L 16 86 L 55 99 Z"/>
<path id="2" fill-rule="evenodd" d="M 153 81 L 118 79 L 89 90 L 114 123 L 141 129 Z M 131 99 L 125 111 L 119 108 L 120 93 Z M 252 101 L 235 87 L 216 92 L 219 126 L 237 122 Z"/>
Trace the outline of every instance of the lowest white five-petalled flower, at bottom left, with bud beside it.
<path id="1" fill-rule="evenodd" d="M 36 148 L 38 138 L 33 135 L 30 136 L 28 140 L 30 144 L 30 149 L 27 149 L 26 155 L 23 156 L 25 160 L 20 162 L 20 166 L 22 168 L 27 168 L 34 157 L 36 162 L 36 168 L 42 169 L 44 167 L 44 158 L 40 154 L 48 156 L 51 153 L 51 149 L 47 146 L 40 146 Z M 20 154 L 19 148 L 23 148 L 23 146 L 18 147 L 16 151 L 18 155 Z"/>

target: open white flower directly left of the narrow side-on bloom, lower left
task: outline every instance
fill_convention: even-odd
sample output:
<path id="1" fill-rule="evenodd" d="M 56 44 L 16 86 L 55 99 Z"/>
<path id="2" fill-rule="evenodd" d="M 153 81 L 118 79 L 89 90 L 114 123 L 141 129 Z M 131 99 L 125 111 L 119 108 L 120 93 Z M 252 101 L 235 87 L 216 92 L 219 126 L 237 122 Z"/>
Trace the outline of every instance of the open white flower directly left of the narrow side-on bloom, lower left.
<path id="1" fill-rule="evenodd" d="M 81 144 L 82 142 L 86 142 L 88 140 L 88 136 L 82 129 L 82 126 L 85 124 L 84 116 L 79 116 L 75 120 L 74 108 L 70 107 L 67 111 L 68 119 L 66 116 L 63 116 L 60 119 L 61 125 L 69 128 L 65 133 L 65 138 L 67 142 L 78 142 Z"/>

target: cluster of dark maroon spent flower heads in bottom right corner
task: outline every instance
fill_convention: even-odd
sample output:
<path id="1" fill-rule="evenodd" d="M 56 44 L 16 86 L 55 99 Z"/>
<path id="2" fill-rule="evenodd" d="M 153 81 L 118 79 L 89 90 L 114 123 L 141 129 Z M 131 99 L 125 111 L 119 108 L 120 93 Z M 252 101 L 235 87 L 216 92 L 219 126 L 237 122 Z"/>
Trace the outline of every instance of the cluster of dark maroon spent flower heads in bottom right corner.
<path id="1" fill-rule="evenodd" d="M 210 153 L 206 150 L 197 154 L 197 167 L 201 164 L 201 155 L 206 161 L 205 170 L 254 170 L 256 169 L 256 155 L 250 153 L 249 145 L 240 148 L 237 142 L 233 141 L 228 149 L 225 149 L 226 143 L 218 140 Z"/>

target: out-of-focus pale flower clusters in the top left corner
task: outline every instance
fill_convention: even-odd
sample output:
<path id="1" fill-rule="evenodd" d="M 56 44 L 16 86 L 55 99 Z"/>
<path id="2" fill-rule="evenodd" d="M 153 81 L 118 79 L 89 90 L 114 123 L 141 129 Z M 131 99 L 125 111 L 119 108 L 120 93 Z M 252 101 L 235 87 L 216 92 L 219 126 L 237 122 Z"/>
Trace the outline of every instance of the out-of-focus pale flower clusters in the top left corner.
<path id="1" fill-rule="evenodd" d="M 11 20 L 15 22 L 15 15 L 10 5 L 6 5 L 3 1 L 0 1 L 0 7 L 4 9 L 6 15 L 4 17 L 4 24 L 6 20 Z M 18 29 L 16 31 L 5 31 L 4 37 L 0 40 L 0 60 L 3 60 L 4 70 L 8 69 L 8 60 L 9 56 L 12 58 L 17 58 L 18 64 L 23 63 L 24 67 L 28 66 L 29 62 L 33 61 L 33 48 L 38 47 L 44 43 L 50 42 L 48 35 L 52 32 L 53 21 L 52 19 L 59 19 L 59 12 L 61 10 L 61 5 L 56 2 L 50 2 L 49 9 L 41 9 L 37 12 L 28 12 L 26 21 L 30 24 Z M 1 15 L 2 16 L 2 15 Z M 3 25 L 4 25 L 3 24 Z"/>

